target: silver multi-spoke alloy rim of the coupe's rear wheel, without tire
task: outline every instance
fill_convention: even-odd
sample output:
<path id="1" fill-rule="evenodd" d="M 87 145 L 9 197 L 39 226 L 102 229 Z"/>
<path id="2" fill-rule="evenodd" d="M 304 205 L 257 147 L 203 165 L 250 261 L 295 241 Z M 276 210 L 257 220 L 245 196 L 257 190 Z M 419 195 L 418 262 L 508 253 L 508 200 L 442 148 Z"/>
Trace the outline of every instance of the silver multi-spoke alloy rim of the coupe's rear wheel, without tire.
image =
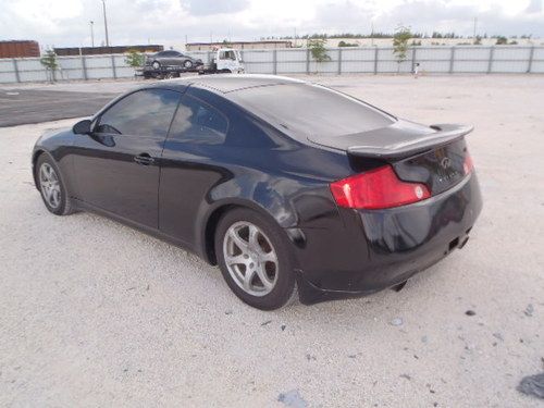
<path id="1" fill-rule="evenodd" d="M 277 255 L 267 235 L 255 224 L 239 221 L 223 238 L 223 257 L 234 282 L 247 294 L 265 296 L 277 282 Z"/>

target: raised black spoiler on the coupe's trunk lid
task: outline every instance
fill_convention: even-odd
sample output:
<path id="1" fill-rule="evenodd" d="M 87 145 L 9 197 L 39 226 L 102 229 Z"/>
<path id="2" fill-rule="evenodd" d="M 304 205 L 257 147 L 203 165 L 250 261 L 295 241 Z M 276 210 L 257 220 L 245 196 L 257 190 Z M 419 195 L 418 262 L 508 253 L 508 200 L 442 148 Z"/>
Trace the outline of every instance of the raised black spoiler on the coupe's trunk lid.
<path id="1" fill-rule="evenodd" d="M 350 156 L 369 159 L 394 160 L 404 159 L 430 149 L 435 149 L 462 138 L 472 132 L 473 126 L 437 124 L 430 128 L 435 132 L 420 135 L 409 135 L 409 137 L 392 137 L 392 143 L 387 144 L 387 135 L 383 135 L 382 144 L 370 143 L 364 145 L 354 145 L 346 148 Z M 378 135 L 375 135 L 378 136 Z M 397 135 L 395 135 L 397 136 Z M 375 141 L 375 138 L 373 138 Z M 359 138 L 364 140 L 364 138 Z M 369 140 L 370 141 L 370 140 Z"/>

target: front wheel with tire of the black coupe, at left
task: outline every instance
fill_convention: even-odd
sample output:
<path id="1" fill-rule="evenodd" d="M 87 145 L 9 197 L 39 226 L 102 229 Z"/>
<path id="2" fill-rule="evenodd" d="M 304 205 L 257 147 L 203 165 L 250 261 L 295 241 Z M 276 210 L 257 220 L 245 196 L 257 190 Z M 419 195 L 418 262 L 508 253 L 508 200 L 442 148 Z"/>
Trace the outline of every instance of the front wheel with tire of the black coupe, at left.
<path id="1" fill-rule="evenodd" d="M 48 153 L 41 153 L 36 162 L 36 183 L 49 212 L 55 215 L 75 212 L 64 177 L 57 162 Z"/>

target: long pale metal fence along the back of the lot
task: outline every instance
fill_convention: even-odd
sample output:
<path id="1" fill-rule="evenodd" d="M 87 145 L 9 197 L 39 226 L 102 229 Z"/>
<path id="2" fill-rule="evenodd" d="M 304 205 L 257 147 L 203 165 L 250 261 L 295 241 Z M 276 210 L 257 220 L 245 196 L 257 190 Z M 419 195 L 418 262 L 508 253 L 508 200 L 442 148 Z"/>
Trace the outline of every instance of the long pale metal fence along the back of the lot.
<path id="1" fill-rule="evenodd" d="M 212 51 L 191 51 L 188 54 L 210 62 Z M 243 50 L 247 73 L 259 74 L 382 74 L 410 73 L 419 63 L 421 73 L 544 73 L 544 47 L 520 46 L 458 46 L 412 47 L 407 60 L 398 63 L 393 48 L 331 48 L 330 61 L 317 63 L 308 49 Z M 127 78 L 134 70 L 125 55 L 58 57 L 57 81 Z M 48 73 L 38 58 L 0 60 L 0 83 L 48 81 Z"/>

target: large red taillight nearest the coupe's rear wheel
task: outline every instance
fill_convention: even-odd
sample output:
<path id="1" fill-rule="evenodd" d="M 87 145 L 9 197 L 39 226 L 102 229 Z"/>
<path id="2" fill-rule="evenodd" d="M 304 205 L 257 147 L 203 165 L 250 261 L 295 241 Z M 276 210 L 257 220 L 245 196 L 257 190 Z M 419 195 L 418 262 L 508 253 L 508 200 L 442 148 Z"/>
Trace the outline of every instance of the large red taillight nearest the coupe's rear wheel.
<path id="1" fill-rule="evenodd" d="M 331 191 L 339 207 L 357 209 L 398 207 L 431 197 L 424 184 L 400 181 L 391 165 L 331 183 Z"/>

